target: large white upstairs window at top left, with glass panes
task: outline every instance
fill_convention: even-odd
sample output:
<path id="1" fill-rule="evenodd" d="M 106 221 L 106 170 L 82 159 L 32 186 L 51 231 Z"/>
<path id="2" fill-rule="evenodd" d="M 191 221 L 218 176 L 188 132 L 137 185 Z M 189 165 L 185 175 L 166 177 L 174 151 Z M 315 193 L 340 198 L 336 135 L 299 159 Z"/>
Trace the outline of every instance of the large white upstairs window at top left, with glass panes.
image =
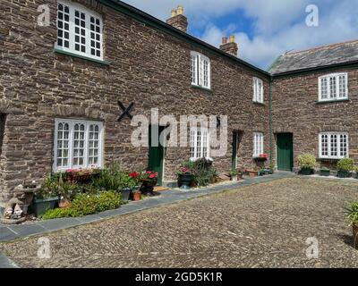
<path id="1" fill-rule="evenodd" d="M 57 3 L 55 48 L 96 60 L 103 60 L 102 17 L 81 4 Z"/>

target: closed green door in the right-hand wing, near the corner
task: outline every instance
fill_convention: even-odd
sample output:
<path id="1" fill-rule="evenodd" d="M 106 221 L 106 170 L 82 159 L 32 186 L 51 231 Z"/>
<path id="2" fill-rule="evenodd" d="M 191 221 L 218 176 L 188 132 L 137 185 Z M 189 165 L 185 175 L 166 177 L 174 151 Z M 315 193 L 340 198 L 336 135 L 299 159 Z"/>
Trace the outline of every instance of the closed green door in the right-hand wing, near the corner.
<path id="1" fill-rule="evenodd" d="M 293 134 L 277 134 L 277 169 L 292 171 L 294 167 Z"/>

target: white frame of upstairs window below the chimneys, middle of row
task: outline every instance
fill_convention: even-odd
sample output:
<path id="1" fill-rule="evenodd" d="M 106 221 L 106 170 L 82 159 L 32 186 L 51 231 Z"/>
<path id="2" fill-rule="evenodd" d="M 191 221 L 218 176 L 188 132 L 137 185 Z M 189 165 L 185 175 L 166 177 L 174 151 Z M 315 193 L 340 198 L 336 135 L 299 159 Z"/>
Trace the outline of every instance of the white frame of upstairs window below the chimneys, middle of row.
<path id="1" fill-rule="evenodd" d="M 208 63 L 208 79 L 205 80 L 204 67 Z M 191 52 L 191 78 L 192 86 L 211 88 L 211 63 L 208 56 L 197 52 Z"/>

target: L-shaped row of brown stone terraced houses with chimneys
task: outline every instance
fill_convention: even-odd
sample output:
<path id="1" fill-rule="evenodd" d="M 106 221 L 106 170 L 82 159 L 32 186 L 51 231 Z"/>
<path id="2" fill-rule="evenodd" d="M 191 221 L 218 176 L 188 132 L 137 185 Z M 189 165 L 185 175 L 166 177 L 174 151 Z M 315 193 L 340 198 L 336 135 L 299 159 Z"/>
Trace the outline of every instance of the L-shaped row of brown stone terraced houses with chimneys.
<path id="1" fill-rule="evenodd" d="M 41 4 L 49 26 L 38 25 Z M 218 172 L 262 153 L 279 170 L 303 152 L 358 159 L 358 42 L 288 53 L 263 71 L 238 57 L 233 36 L 217 48 L 189 35 L 181 6 L 166 22 L 112 0 L 0 0 L 0 15 L 0 202 L 46 172 L 115 160 L 162 182 L 183 160 L 210 157 L 202 127 L 188 126 L 187 147 L 134 147 L 129 117 L 152 108 L 178 121 L 227 115 Z"/>

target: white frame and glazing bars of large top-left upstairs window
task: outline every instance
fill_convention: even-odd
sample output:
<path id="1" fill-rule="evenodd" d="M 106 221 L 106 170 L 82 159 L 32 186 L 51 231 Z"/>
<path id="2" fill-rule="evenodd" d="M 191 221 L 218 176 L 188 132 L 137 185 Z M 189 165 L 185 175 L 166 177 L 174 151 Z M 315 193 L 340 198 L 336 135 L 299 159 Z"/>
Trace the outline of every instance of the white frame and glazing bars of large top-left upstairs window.
<path id="1" fill-rule="evenodd" d="M 76 54 L 76 55 L 81 55 L 90 59 L 95 59 L 95 60 L 100 60 L 103 61 L 104 59 L 104 51 L 103 51 L 103 18 L 100 14 L 91 11 L 90 9 L 84 7 L 81 4 L 78 3 L 74 3 L 74 2 L 69 2 L 67 0 L 60 0 L 57 1 L 57 10 L 58 10 L 58 4 L 63 4 L 65 6 L 68 6 L 70 9 L 70 13 L 69 13 L 69 47 L 65 47 L 65 46 L 59 46 L 57 43 L 57 39 L 58 39 L 58 34 L 56 36 L 56 42 L 55 42 L 55 49 L 56 50 L 62 50 L 64 52 L 69 52 L 71 54 Z M 75 10 L 78 10 L 80 13 L 85 13 L 86 15 L 86 20 L 85 20 L 85 38 L 86 38 L 86 53 L 83 53 L 81 51 L 76 51 L 75 50 L 75 21 L 74 21 L 74 13 Z M 100 51 L 100 56 L 97 55 L 91 55 L 91 30 L 90 30 L 90 17 L 95 17 L 99 20 L 99 51 Z M 56 26 L 57 26 L 57 33 L 58 33 L 58 11 L 57 11 L 57 16 L 56 16 Z M 97 32 L 95 32 L 95 37 L 98 35 Z M 95 45 L 96 45 L 97 41 L 95 41 Z M 95 49 L 97 51 L 97 48 Z"/>

